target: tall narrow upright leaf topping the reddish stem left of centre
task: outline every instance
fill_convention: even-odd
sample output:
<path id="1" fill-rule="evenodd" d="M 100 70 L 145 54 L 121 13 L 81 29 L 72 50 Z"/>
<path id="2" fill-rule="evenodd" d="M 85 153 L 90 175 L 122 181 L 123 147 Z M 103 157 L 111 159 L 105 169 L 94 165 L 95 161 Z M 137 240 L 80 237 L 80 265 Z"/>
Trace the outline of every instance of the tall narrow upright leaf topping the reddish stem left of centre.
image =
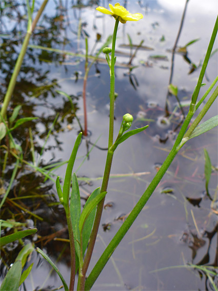
<path id="1" fill-rule="evenodd" d="M 71 182 L 72 170 L 73 170 L 73 165 L 76 158 L 76 153 L 78 151 L 78 147 L 81 142 L 81 138 L 82 138 L 82 132 L 76 138 L 73 151 L 67 165 L 67 170 L 66 170 L 65 179 L 64 179 L 64 187 L 63 187 L 63 199 L 64 199 L 65 207 L 69 204 L 70 182 Z"/>

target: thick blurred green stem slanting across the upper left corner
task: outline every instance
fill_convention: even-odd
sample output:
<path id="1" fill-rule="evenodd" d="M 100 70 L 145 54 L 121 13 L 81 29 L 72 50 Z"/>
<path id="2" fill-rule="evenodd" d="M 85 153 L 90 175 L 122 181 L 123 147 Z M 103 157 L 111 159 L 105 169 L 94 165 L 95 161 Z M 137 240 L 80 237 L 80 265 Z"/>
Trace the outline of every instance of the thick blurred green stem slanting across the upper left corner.
<path id="1" fill-rule="evenodd" d="M 34 28 L 36 26 L 36 23 L 37 23 L 39 17 L 41 16 L 41 14 L 42 14 L 47 2 L 48 2 L 48 0 L 44 0 L 42 6 L 39 8 L 39 10 L 37 12 L 37 15 L 36 15 L 36 17 L 35 17 L 35 19 L 34 19 L 34 21 L 32 23 L 31 29 L 28 29 L 28 31 L 27 31 L 26 37 L 24 39 L 24 43 L 22 45 L 21 52 L 19 53 L 19 56 L 17 58 L 16 64 L 15 64 L 15 67 L 14 67 L 14 71 L 13 71 L 13 74 L 11 76 L 11 79 L 10 79 L 10 82 L 9 82 L 9 86 L 8 86 L 8 89 L 7 89 L 7 92 L 6 92 L 6 95 L 5 95 L 5 99 L 4 99 L 4 102 L 3 102 L 3 106 L 2 106 L 2 110 L 1 110 L 1 114 L 2 114 L 3 118 L 6 117 L 8 104 L 9 104 L 9 102 L 11 100 L 11 97 L 12 97 L 12 94 L 13 94 L 13 90 L 14 90 L 14 87 L 15 87 L 15 84 L 16 84 L 16 79 L 17 79 L 17 76 L 18 76 L 19 71 L 21 69 L 21 65 L 22 65 L 25 53 L 27 51 L 27 46 L 29 44 L 29 40 L 30 40 L 31 34 L 32 34 L 32 32 L 33 32 L 33 30 L 34 30 Z"/>

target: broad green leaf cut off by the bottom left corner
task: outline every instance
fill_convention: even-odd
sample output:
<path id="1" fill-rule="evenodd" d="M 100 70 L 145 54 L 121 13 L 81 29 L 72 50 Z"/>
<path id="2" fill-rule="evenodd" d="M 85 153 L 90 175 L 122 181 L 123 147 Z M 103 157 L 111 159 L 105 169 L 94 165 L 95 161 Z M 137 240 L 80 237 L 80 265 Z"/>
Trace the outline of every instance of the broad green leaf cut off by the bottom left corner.
<path id="1" fill-rule="evenodd" d="M 18 291 L 19 281 L 21 280 L 22 264 L 16 261 L 7 272 L 5 279 L 0 287 L 1 291 Z"/>

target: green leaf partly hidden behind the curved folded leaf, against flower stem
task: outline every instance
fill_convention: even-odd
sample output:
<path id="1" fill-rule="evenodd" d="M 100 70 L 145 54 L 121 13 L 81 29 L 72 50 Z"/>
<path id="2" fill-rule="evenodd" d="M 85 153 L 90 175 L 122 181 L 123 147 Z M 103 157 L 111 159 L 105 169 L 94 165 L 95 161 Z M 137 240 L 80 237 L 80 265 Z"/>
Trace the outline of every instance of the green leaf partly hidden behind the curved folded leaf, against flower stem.
<path id="1" fill-rule="evenodd" d="M 100 194 L 100 187 L 95 189 L 91 193 L 84 208 L 86 208 L 89 205 L 89 203 L 99 194 Z M 91 234 L 93 223 L 94 223 L 95 212 L 96 212 L 96 206 L 93 208 L 93 210 L 89 214 L 83 227 L 83 254 L 85 253 L 88 242 L 89 242 L 90 234 Z"/>

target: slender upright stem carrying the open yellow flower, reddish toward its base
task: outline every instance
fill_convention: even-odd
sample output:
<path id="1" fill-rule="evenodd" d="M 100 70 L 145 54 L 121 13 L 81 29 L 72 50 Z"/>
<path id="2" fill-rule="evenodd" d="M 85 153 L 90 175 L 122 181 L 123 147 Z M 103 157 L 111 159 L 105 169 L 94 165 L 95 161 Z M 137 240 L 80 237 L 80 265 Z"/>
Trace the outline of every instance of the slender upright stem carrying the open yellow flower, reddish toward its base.
<path id="1" fill-rule="evenodd" d="M 110 67 L 110 123 L 109 123 L 109 138 L 108 138 L 108 154 L 107 154 L 107 159 L 106 159 L 105 172 L 104 172 L 104 177 L 102 181 L 101 192 L 107 191 L 108 180 L 110 176 L 110 169 L 111 169 L 111 164 L 112 164 L 112 159 L 113 159 L 113 152 L 111 152 L 109 149 L 111 145 L 113 144 L 114 89 L 115 89 L 114 54 L 115 54 L 115 43 L 116 43 L 116 33 L 117 33 L 118 24 L 119 24 L 119 21 L 116 20 L 114 31 L 113 31 L 111 67 Z M 94 221 L 92 232 L 90 235 L 89 246 L 88 246 L 86 257 L 84 259 L 84 264 L 83 264 L 83 275 L 84 275 L 83 280 L 84 281 L 85 281 L 86 272 L 91 260 L 91 256 L 92 256 L 92 252 L 93 252 L 93 248 L 94 248 L 94 244 L 95 244 L 95 240 L 97 236 L 97 231 L 100 225 L 104 202 L 105 202 L 105 198 L 102 199 L 102 201 L 97 206 L 95 221 Z"/>

